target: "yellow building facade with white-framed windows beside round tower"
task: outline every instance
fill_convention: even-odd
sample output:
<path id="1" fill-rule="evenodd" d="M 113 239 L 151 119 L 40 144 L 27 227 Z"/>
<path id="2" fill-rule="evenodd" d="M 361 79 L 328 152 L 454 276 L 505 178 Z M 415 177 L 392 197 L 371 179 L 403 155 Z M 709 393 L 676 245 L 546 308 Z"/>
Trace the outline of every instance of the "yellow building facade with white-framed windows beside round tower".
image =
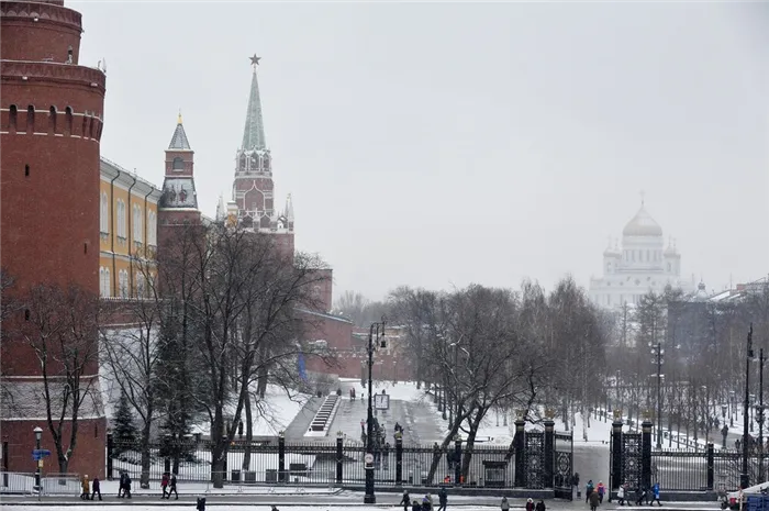
<path id="1" fill-rule="evenodd" d="M 146 295 L 157 274 L 157 208 L 161 190 L 101 158 L 99 293 L 103 298 Z"/>

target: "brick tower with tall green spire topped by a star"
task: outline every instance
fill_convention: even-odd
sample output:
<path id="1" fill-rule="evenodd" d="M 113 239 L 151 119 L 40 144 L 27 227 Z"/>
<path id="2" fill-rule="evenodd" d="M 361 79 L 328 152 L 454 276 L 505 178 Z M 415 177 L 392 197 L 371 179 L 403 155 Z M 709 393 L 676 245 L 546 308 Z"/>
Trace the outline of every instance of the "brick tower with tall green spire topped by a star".
<path id="1" fill-rule="evenodd" d="M 274 234 L 286 254 L 293 255 L 291 196 L 288 196 L 283 211 L 277 211 L 275 208 L 272 156 L 265 140 L 259 82 L 256 77 L 259 59 L 260 57 L 256 55 L 250 57 L 254 74 L 248 97 L 248 111 L 243 132 L 243 145 L 237 152 L 232 201 L 227 212 L 237 214 L 237 221 L 243 227 Z"/>

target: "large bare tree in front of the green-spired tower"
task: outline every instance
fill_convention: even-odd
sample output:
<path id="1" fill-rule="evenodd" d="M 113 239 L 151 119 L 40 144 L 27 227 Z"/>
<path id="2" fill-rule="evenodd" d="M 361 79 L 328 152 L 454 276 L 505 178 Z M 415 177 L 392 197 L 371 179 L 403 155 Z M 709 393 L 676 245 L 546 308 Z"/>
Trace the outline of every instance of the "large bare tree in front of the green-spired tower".
<path id="1" fill-rule="evenodd" d="M 187 301 L 197 376 L 203 380 L 194 396 L 211 424 L 214 485 L 223 484 L 230 438 L 237 432 L 250 384 L 263 368 L 296 360 L 299 341 L 313 308 L 314 285 L 327 279 L 316 257 L 287 257 L 272 236 L 214 224 L 192 238 L 192 271 L 198 290 Z"/>

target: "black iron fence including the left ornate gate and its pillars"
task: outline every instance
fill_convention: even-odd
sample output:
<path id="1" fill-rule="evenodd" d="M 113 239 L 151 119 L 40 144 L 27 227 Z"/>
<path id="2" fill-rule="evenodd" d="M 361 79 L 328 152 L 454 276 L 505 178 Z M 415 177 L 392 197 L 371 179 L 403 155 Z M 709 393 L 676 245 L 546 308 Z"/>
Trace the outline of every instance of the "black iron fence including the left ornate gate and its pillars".
<path id="1" fill-rule="evenodd" d="M 523 425 L 522 425 L 523 427 Z M 523 442 L 531 435 L 536 442 Z M 550 445 L 549 451 L 542 442 L 555 444 L 550 431 L 530 432 L 516 435 L 513 445 L 475 445 L 468 448 L 460 440 L 441 448 L 432 446 L 404 445 L 400 440 L 390 448 L 375 453 L 374 473 L 379 486 L 437 486 L 442 484 L 466 487 L 513 488 L 526 487 L 536 473 L 538 488 L 554 488 L 556 471 L 571 471 L 571 442 L 568 442 L 568 466 L 564 460 L 567 452 L 567 437 L 559 434 L 558 451 Z M 539 442 L 542 441 L 542 442 Z M 121 443 L 108 435 L 107 477 L 116 479 L 126 471 L 138 484 L 144 471 L 146 479 L 159 480 L 163 474 L 176 474 L 180 482 L 209 482 L 213 480 L 213 444 L 203 440 L 165 441 L 153 443 L 143 456 L 137 443 Z M 530 445 L 532 444 L 532 445 Z M 519 447 L 516 447 L 519 446 Z M 522 448 L 536 448 L 526 455 Z M 544 460 L 547 452 L 549 463 Z M 556 453 L 560 462 L 556 465 Z M 307 442 L 290 443 L 283 437 L 261 442 L 233 441 L 229 446 L 222 479 L 237 485 L 301 485 L 343 486 L 364 485 L 366 468 L 365 447 L 357 442 L 337 438 L 335 443 Z M 544 462 L 544 463 L 543 463 Z M 531 467 L 527 467 L 527 463 Z M 557 467 L 557 468 L 556 468 Z M 519 474 L 516 482 L 516 470 Z M 524 477 L 521 477 L 524 476 Z M 564 486 L 557 478 L 559 486 Z"/>

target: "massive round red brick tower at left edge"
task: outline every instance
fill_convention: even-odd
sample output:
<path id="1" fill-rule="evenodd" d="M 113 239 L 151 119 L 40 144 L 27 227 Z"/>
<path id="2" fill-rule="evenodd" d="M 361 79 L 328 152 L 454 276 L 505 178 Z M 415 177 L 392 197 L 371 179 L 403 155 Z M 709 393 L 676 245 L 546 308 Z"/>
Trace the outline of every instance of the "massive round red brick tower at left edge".
<path id="1" fill-rule="evenodd" d="M 99 292 L 105 77 L 78 65 L 81 32 L 80 13 L 65 8 L 64 0 L 0 2 L 0 267 L 15 279 L 19 292 L 37 284 L 74 284 Z M 40 364 L 30 347 L 10 343 L 13 357 L 3 360 L 3 371 L 15 397 L 29 401 Z M 97 363 L 85 373 L 96 378 Z M 3 409 L 2 415 L 0 442 L 8 443 L 8 452 L 0 467 L 32 471 L 35 426 L 44 430 L 43 446 L 53 449 L 44 409 L 37 403 L 15 413 Z M 69 471 L 101 476 L 101 403 L 82 416 Z M 45 470 L 56 471 L 55 460 Z"/>

